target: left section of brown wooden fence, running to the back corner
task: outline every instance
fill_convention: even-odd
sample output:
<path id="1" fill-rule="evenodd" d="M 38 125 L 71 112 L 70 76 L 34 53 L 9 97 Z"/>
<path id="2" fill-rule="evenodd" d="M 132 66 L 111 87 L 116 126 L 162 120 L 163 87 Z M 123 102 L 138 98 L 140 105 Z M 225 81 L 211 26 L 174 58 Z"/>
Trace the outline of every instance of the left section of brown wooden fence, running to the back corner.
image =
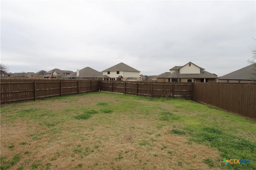
<path id="1" fill-rule="evenodd" d="M 98 80 L 1 79 L 1 104 L 98 91 Z"/>

